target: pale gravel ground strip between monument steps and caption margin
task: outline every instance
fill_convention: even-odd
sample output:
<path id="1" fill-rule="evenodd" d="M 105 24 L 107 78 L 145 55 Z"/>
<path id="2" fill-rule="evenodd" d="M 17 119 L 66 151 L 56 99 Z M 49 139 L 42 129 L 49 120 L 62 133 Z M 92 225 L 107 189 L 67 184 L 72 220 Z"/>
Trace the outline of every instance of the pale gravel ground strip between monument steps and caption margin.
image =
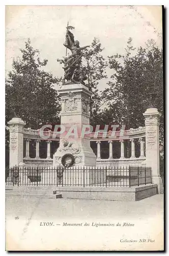
<path id="1" fill-rule="evenodd" d="M 50 199 L 36 196 L 6 195 L 6 215 L 8 217 L 98 217 L 117 216 L 149 218 L 163 214 L 163 195 L 155 195 L 136 202 L 86 199 Z"/>

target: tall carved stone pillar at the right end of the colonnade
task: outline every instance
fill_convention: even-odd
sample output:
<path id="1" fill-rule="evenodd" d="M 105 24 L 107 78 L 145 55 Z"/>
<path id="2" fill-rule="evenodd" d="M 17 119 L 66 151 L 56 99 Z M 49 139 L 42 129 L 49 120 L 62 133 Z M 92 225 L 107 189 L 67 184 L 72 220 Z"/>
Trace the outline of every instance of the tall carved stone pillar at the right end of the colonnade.
<path id="1" fill-rule="evenodd" d="M 152 182 L 158 185 L 158 193 L 163 193 L 159 170 L 159 118 L 156 108 L 149 108 L 143 113 L 146 125 L 146 166 L 152 168 Z"/>

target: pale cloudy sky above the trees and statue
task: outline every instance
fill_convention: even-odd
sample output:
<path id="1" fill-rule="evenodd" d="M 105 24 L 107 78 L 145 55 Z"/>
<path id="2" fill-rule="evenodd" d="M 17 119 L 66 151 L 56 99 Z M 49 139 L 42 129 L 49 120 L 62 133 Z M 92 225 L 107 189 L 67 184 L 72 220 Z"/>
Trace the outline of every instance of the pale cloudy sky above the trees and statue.
<path id="1" fill-rule="evenodd" d="M 13 59 L 21 57 L 19 49 L 24 48 L 29 37 L 33 48 L 40 51 L 40 58 L 48 59 L 45 70 L 63 76 L 57 58 L 66 53 L 63 42 L 68 20 L 75 27 L 72 32 L 80 46 L 99 38 L 105 58 L 123 54 L 129 37 L 136 48 L 145 46 L 148 39 L 154 39 L 161 47 L 160 6 L 7 6 L 6 75 L 12 69 Z M 108 76 L 111 73 L 108 70 Z M 106 81 L 99 83 L 99 90 L 106 87 Z"/>

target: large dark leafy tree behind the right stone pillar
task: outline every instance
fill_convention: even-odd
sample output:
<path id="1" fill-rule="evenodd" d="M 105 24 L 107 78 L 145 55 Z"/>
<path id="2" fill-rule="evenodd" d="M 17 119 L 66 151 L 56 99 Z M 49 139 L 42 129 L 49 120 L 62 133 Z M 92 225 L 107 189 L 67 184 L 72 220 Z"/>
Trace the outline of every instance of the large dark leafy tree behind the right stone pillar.
<path id="1" fill-rule="evenodd" d="M 148 93 L 157 94 L 156 108 L 160 117 L 160 149 L 163 153 L 163 59 L 162 49 L 149 40 L 145 48 L 137 50 L 129 38 L 124 55 L 108 57 L 109 68 L 114 71 L 108 82 L 108 88 L 102 94 L 107 101 L 107 113 L 127 129 L 144 126 L 143 113 L 148 108 Z M 106 118 L 105 118 L 106 122 Z M 162 158 L 161 158 L 162 160 Z"/>

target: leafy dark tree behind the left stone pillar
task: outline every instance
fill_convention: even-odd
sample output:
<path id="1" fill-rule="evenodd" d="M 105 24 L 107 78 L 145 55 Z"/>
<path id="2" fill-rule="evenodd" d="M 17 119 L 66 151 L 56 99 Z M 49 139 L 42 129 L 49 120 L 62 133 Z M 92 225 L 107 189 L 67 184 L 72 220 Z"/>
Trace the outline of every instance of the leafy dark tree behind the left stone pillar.
<path id="1" fill-rule="evenodd" d="M 39 51 L 33 49 L 30 39 L 20 51 L 22 59 L 13 61 L 13 69 L 6 80 L 6 122 L 12 118 L 16 103 L 19 104 L 19 116 L 32 129 L 58 122 L 60 101 L 53 88 L 58 80 L 42 69 L 47 60 L 40 60 Z"/>

